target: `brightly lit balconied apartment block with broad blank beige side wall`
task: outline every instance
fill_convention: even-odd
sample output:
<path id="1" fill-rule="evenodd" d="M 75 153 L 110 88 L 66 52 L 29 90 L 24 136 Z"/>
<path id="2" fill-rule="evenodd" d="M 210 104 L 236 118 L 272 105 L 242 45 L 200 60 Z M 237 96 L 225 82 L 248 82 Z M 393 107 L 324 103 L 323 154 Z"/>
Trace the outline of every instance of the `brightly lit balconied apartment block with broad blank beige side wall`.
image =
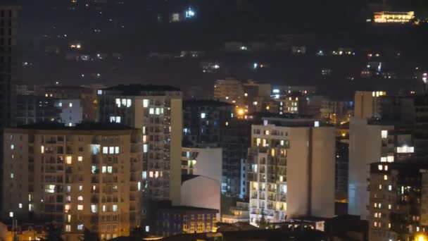
<path id="1" fill-rule="evenodd" d="M 264 118 L 248 150 L 250 223 L 334 216 L 335 130 L 313 119 Z"/>

